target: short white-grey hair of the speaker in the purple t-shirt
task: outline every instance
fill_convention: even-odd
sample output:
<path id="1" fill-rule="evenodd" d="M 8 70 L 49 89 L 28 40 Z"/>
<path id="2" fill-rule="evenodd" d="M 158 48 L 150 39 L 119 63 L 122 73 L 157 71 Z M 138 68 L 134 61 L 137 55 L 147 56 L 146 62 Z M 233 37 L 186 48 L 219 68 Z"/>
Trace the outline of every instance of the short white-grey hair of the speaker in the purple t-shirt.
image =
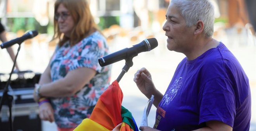
<path id="1" fill-rule="evenodd" d="M 178 8 L 188 27 L 202 20 L 206 37 L 213 35 L 214 6 L 209 0 L 171 0 L 171 3 Z"/>

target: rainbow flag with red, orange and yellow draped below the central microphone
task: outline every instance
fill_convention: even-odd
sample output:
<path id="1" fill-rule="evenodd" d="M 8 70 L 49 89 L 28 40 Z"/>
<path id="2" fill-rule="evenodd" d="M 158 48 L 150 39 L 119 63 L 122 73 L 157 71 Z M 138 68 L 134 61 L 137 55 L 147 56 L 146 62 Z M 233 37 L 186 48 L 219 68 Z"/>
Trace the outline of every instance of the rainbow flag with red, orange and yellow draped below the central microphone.
<path id="1" fill-rule="evenodd" d="M 138 131 L 130 111 L 121 106 L 123 92 L 114 81 L 100 96 L 90 118 L 82 121 L 74 131 Z"/>

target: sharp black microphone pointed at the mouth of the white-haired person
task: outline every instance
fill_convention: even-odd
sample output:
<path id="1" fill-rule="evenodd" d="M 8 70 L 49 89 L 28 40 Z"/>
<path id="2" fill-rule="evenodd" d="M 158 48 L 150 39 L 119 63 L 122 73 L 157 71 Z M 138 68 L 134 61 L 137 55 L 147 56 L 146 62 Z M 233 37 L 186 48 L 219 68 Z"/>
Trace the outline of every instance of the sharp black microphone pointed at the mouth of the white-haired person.
<path id="1" fill-rule="evenodd" d="M 117 52 L 114 52 L 112 54 L 101 57 L 99 59 L 99 64 L 101 67 L 104 67 L 114 62 L 127 59 L 129 57 L 135 57 L 140 52 L 146 52 L 156 48 L 157 45 L 158 45 L 158 42 L 156 38 L 145 39 L 139 44 L 133 45 L 130 48 L 125 48 Z"/>

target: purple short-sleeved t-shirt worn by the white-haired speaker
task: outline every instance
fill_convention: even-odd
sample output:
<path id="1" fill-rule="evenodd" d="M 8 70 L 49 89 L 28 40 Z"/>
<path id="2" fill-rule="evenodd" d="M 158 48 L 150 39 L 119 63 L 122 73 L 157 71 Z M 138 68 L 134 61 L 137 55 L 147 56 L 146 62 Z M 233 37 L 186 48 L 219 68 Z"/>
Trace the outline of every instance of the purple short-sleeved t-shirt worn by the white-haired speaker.
<path id="1" fill-rule="evenodd" d="M 248 78 L 223 43 L 195 60 L 180 62 L 157 107 L 154 128 L 189 131 L 211 120 L 233 131 L 248 131 L 251 120 Z"/>

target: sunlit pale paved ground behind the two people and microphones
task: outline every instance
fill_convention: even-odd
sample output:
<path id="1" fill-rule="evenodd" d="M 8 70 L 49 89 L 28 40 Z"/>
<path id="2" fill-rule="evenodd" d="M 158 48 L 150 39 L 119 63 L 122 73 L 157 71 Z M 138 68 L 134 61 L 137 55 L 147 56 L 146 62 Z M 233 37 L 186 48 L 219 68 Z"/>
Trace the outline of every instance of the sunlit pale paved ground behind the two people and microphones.
<path id="1" fill-rule="evenodd" d="M 166 38 L 164 38 L 165 40 Z M 158 40 L 158 39 L 157 39 Z M 127 45 L 119 45 L 123 49 Z M 252 118 L 251 131 L 256 131 L 256 47 L 228 45 L 230 50 L 237 57 L 242 67 L 244 68 L 250 80 L 251 94 L 252 94 Z M 116 49 L 119 50 L 119 49 Z M 115 50 L 113 50 L 115 51 Z M 21 70 L 32 70 L 35 72 L 43 72 L 48 64 L 48 59 L 52 51 L 47 50 L 45 44 L 33 45 L 32 47 L 24 49 L 22 47 L 18 56 L 18 63 Z M 133 59 L 133 67 L 123 76 L 119 85 L 123 91 L 123 106 L 131 111 L 137 124 L 140 123 L 142 111 L 147 103 L 146 97 L 137 89 L 133 82 L 133 74 L 140 68 L 146 67 L 152 74 L 152 79 L 156 87 L 165 92 L 178 62 L 185 57 L 183 54 L 170 52 L 166 49 L 164 42 L 159 40 L 159 46 L 150 51 L 140 53 Z M 112 81 L 114 81 L 123 68 L 125 61 L 116 62 L 113 64 Z M 9 73 L 12 62 L 5 50 L 0 50 L 0 72 Z M 152 127 L 155 121 L 156 107 L 152 106 L 148 121 L 149 126 Z M 43 131 L 55 131 L 55 124 L 43 122 Z"/>

